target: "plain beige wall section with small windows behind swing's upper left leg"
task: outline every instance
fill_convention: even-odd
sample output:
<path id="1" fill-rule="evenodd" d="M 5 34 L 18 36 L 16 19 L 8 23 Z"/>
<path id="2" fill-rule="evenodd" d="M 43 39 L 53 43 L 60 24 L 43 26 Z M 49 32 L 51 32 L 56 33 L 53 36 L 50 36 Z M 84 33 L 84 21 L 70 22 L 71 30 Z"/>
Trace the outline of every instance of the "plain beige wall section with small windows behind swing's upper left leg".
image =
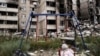
<path id="1" fill-rule="evenodd" d="M 29 15 L 34 11 L 34 2 L 37 0 L 19 0 L 19 30 L 25 29 L 25 25 L 29 19 Z M 37 19 L 32 16 L 31 31 L 36 31 Z M 28 30 L 28 29 L 27 29 Z"/>

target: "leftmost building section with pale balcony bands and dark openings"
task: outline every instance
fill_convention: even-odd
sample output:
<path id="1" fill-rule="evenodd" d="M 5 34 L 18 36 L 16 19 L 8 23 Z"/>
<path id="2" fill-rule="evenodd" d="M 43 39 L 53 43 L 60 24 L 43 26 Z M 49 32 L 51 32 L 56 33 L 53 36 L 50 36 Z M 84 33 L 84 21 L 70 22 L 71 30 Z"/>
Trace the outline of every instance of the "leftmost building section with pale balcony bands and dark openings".
<path id="1" fill-rule="evenodd" d="M 0 34 L 16 32 L 18 22 L 18 1 L 0 0 Z"/>

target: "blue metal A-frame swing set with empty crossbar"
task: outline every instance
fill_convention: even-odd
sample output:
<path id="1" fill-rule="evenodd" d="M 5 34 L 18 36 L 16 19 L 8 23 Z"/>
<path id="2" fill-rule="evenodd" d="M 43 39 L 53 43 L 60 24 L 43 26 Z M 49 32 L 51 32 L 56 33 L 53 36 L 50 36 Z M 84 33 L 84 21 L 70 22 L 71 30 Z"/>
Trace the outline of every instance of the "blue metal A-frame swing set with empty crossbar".
<path id="1" fill-rule="evenodd" d="M 21 51 L 21 48 L 22 48 L 22 44 L 23 44 L 23 38 L 27 34 L 26 29 L 27 29 L 28 25 L 29 25 L 29 29 L 31 27 L 32 16 L 46 16 L 46 17 L 47 16 L 69 16 L 69 17 L 71 17 L 74 29 L 75 30 L 78 29 L 80 31 L 83 48 L 84 49 L 86 48 L 86 45 L 85 45 L 85 42 L 84 42 L 84 39 L 83 39 L 83 35 L 82 35 L 81 29 L 80 29 L 80 26 L 79 26 L 79 21 L 78 21 L 77 17 L 75 16 L 74 11 L 70 11 L 69 13 L 66 13 L 66 14 L 34 14 L 33 12 L 31 12 L 29 14 L 29 18 L 27 20 L 24 32 L 22 32 L 22 37 L 21 37 L 21 40 L 20 40 L 19 48 L 16 51 L 15 56 L 24 56 L 23 52 Z"/>

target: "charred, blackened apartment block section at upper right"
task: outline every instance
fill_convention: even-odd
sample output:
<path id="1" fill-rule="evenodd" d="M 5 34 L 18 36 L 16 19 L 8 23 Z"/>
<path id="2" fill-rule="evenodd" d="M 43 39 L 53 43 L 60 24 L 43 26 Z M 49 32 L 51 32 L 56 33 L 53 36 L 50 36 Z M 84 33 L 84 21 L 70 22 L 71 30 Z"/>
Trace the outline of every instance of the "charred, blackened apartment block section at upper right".
<path id="1" fill-rule="evenodd" d="M 89 24 L 100 23 L 99 0 L 77 0 L 77 17 L 81 22 Z"/>

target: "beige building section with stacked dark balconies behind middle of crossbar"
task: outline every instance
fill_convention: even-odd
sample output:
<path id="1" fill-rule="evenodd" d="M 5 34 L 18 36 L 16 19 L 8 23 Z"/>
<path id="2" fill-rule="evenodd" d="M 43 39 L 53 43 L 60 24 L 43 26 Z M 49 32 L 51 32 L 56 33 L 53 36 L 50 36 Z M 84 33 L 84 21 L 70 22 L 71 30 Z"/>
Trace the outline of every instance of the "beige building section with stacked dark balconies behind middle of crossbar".
<path id="1" fill-rule="evenodd" d="M 40 14 L 56 14 L 59 13 L 56 8 L 55 0 L 40 0 L 39 10 Z M 46 35 L 47 32 L 58 31 L 58 16 L 39 16 L 40 33 Z"/>

